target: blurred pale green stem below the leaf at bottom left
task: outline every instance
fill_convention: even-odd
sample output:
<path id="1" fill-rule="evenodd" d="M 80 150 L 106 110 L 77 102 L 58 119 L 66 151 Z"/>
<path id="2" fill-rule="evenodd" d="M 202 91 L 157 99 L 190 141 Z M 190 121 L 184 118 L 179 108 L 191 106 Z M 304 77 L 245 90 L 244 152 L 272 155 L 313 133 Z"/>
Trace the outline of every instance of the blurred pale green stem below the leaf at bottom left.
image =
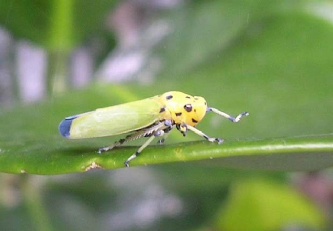
<path id="1" fill-rule="evenodd" d="M 22 181 L 21 191 L 34 230 L 51 231 L 52 225 L 41 200 L 40 182 L 30 175 L 23 175 Z"/>

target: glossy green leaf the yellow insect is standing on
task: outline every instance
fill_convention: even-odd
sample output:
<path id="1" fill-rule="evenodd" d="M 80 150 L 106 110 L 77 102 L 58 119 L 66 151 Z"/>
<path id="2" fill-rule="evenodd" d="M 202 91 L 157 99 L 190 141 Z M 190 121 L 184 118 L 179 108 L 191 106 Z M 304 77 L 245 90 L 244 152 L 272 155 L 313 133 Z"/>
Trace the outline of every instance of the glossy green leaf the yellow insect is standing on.
<path id="1" fill-rule="evenodd" d="M 118 94 L 117 89 L 123 88 L 96 86 L 88 91 L 73 92 L 60 99 L 55 98 L 52 103 L 19 107 L 2 113 L 0 130 L 6 133 L 0 136 L 0 171 L 63 174 L 84 172 L 94 168 L 123 167 L 123 162 L 138 149 L 138 146 L 122 146 L 100 155 L 96 153 L 98 148 L 110 145 L 121 136 L 69 140 L 61 137 L 57 131 L 58 123 L 65 116 L 88 111 L 80 109 L 81 102 L 85 102 L 84 105 L 89 105 L 89 108 L 93 109 L 123 101 L 120 98 L 112 100 L 113 97 L 131 95 L 126 91 Z M 71 102 L 79 103 L 73 104 L 68 98 Z M 108 101 L 113 103 L 107 103 Z M 246 127 L 249 122 L 251 123 L 251 114 L 244 117 L 240 123 L 230 124 L 240 133 L 241 128 Z M 221 167 L 266 170 L 305 171 L 333 166 L 332 134 L 275 139 L 226 138 L 224 143 L 218 145 L 207 141 L 183 143 L 186 137 L 183 138 L 177 131 L 172 133 L 174 137 L 170 137 L 171 143 L 176 141 L 177 143 L 170 144 L 167 140 L 163 146 L 151 145 L 130 165 L 211 159 L 207 163 Z M 201 139 L 190 133 L 189 136 L 189 140 Z M 142 138 L 136 143 L 143 142 Z"/>

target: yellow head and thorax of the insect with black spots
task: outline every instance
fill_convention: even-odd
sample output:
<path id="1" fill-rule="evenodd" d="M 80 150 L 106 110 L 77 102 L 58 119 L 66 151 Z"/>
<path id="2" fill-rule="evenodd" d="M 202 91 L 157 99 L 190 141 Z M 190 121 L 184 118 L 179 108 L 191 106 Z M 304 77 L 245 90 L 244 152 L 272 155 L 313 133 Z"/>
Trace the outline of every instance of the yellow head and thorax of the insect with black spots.
<path id="1" fill-rule="evenodd" d="M 155 96 L 161 103 L 160 120 L 171 120 L 175 124 L 197 125 L 204 117 L 207 103 L 203 97 L 171 91 Z"/>

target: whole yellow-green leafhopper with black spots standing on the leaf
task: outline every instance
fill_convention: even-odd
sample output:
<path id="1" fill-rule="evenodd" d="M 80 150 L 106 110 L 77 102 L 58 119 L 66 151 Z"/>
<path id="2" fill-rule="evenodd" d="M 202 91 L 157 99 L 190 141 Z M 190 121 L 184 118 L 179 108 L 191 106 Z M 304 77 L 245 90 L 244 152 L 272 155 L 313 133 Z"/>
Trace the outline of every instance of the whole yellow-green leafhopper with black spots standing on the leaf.
<path id="1" fill-rule="evenodd" d="M 220 144 L 223 141 L 222 139 L 211 138 L 195 128 L 205 114 L 210 111 L 232 122 L 238 122 L 241 117 L 248 115 L 247 112 L 242 112 L 238 116 L 232 117 L 215 108 L 207 107 L 206 100 L 203 97 L 170 91 L 151 98 L 66 117 L 59 124 L 59 132 L 70 139 L 131 133 L 111 146 L 100 148 L 98 153 L 109 151 L 127 141 L 149 137 L 124 162 L 125 166 L 128 167 L 129 162 L 141 153 L 155 137 L 163 136 L 158 141 L 159 144 L 162 144 L 173 128 L 180 131 L 183 136 L 186 136 L 186 133 L 190 130 L 208 141 L 216 141 Z"/>

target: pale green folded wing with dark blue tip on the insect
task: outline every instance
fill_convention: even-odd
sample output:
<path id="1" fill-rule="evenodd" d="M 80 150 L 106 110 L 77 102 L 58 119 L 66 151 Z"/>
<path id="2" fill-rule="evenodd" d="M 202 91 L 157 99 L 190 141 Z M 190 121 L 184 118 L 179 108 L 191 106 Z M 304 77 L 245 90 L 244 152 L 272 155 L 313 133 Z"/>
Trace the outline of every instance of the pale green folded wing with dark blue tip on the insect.
<path id="1" fill-rule="evenodd" d="M 59 124 L 71 139 L 113 136 L 145 128 L 159 119 L 161 104 L 152 98 L 70 116 Z"/>

